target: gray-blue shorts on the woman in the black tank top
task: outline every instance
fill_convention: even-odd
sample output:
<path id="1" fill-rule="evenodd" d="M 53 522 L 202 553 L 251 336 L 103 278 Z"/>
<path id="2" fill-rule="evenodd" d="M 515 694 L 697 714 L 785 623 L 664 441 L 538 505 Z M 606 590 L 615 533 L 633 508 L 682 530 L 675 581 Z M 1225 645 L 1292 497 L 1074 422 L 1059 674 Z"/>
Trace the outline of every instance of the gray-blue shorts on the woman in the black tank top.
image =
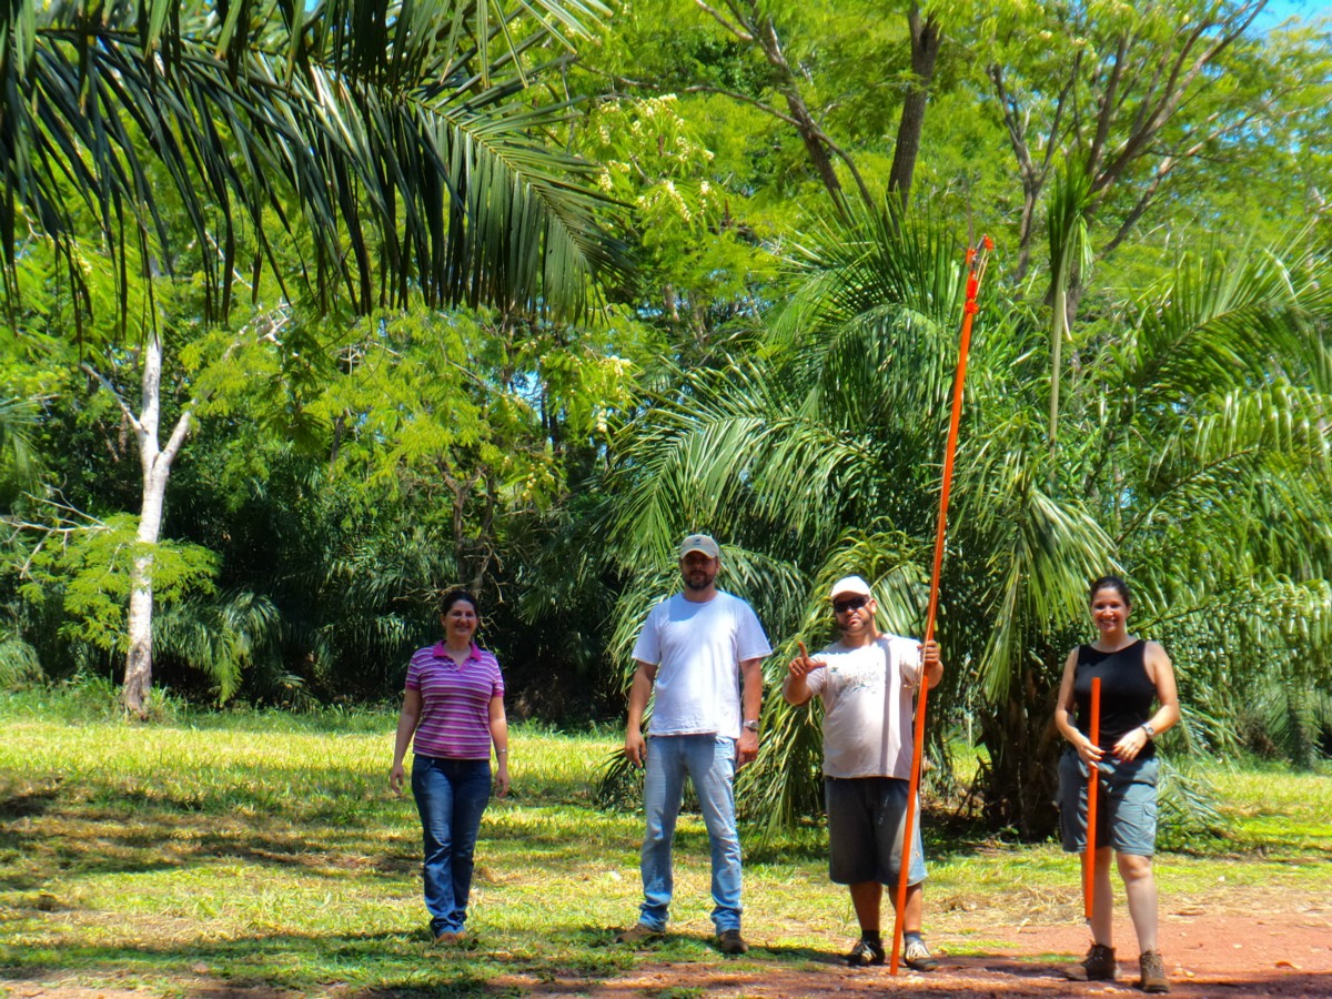
<path id="1" fill-rule="evenodd" d="M 1096 791 L 1096 846 L 1112 846 L 1122 854 L 1151 856 L 1156 852 L 1156 777 L 1160 761 L 1100 762 Z M 1087 848 L 1087 765 L 1072 749 L 1059 758 L 1059 827 L 1064 851 Z"/>

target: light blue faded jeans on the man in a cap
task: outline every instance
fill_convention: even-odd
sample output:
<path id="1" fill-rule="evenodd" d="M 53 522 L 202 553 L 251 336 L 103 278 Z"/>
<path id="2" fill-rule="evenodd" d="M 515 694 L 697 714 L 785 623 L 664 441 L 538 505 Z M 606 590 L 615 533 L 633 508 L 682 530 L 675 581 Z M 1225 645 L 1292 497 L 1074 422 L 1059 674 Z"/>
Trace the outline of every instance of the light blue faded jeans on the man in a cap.
<path id="1" fill-rule="evenodd" d="M 741 928 L 741 840 L 735 834 L 735 739 L 721 735 L 653 735 L 643 782 L 643 904 L 638 922 L 665 930 L 670 916 L 671 844 L 685 794 L 685 775 L 703 810 L 713 847 L 713 923 L 717 932 Z"/>

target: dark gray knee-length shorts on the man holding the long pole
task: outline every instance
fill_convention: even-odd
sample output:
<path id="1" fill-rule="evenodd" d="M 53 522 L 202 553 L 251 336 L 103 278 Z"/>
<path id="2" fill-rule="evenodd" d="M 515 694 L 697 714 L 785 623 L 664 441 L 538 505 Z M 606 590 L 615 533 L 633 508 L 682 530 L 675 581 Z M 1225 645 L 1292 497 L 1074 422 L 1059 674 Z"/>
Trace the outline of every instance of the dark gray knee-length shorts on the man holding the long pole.
<path id="1" fill-rule="evenodd" d="M 825 777 L 829 813 L 829 876 L 836 884 L 876 880 L 896 884 L 902 866 L 902 827 L 907 817 L 907 782 L 892 777 Z M 920 811 L 912 830 L 907 883 L 926 878 Z"/>

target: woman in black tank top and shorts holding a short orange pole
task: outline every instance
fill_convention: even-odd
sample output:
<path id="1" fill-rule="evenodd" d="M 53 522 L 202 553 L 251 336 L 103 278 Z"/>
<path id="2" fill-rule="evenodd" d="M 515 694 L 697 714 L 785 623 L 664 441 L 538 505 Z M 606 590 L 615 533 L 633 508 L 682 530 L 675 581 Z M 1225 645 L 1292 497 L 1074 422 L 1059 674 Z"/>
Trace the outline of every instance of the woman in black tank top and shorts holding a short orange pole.
<path id="1" fill-rule="evenodd" d="M 1059 765 L 1059 810 L 1063 847 L 1083 854 L 1087 830 L 1087 785 L 1098 771 L 1096 856 L 1091 906 L 1092 944 L 1087 956 L 1066 968 L 1076 980 L 1114 980 L 1119 967 L 1111 939 L 1110 862 L 1128 898 L 1128 915 L 1138 935 L 1140 976 L 1146 992 L 1168 992 L 1166 966 L 1156 948 L 1156 882 L 1152 854 L 1156 839 L 1156 743 L 1179 721 L 1175 670 L 1156 642 L 1128 633 L 1132 598 L 1128 586 L 1107 575 L 1091 586 L 1091 617 L 1098 638 L 1068 653 L 1055 706 L 1055 726 L 1070 747 Z M 1092 681 L 1100 679 L 1100 727 L 1091 733 Z M 1154 702 L 1159 705 L 1152 710 Z M 1086 880 L 1084 880 L 1086 883 Z"/>

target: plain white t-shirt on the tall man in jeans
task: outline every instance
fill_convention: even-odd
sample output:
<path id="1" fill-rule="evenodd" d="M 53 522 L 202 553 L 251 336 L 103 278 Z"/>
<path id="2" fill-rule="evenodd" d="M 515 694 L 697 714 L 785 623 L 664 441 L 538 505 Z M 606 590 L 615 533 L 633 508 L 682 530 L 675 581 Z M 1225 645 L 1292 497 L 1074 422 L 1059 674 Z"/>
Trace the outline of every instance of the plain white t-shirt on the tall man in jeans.
<path id="1" fill-rule="evenodd" d="M 739 665 L 773 651 L 749 603 L 717 591 L 706 603 L 683 594 L 647 614 L 634 658 L 657 666 L 649 735 L 741 735 Z"/>

